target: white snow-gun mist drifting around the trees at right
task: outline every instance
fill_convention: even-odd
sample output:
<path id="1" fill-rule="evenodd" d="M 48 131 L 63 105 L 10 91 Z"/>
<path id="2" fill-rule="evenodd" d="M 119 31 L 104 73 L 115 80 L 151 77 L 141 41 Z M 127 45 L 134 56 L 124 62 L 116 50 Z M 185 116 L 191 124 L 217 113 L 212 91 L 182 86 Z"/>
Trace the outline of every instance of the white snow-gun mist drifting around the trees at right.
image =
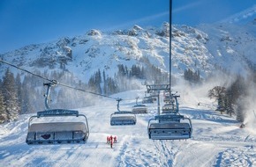
<path id="1" fill-rule="evenodd" d="M 255 81 L 246 77 L 216 71 L 200 84 L 188 83 L 183 78 L 176 80 L 174 90 L 181 95 L 181 105 L 209 107 L 217 113 L 228 114 L 242 127 L 252 127 L 256 122 Z M 239 126 L 239 125 L 238 125 Z"/>

